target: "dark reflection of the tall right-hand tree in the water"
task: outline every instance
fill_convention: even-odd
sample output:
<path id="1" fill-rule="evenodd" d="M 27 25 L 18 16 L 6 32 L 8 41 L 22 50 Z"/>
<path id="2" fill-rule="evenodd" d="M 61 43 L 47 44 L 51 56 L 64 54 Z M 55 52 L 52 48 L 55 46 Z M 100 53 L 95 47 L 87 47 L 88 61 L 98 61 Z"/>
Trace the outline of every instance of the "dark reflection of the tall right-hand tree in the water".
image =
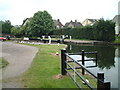
<path id="1" fill-rule="evenodd" d="M 110 69 L 115 67 L 115 48 L 111 46 L 96 47 L 98 51 L 98 67 L 101 69 Z"/>

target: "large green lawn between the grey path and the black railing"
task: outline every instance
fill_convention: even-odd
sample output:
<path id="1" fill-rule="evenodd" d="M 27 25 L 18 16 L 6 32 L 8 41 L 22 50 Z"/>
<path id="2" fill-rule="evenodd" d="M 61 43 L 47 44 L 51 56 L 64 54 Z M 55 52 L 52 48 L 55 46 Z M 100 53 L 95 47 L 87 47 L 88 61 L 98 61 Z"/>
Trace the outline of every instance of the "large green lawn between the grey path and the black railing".
<path id="1" fill-rule="evenodd" d="M 33 46 L 33 45 L 32 45 Z M 65 45 L 34 45 L 39 49 L 29 70 L 24 74 L 23 81 L 28 88 L 78 88 L 66 75 L 56 78 L 61 73 L 60 55 L 55 55 Z M 86 88 L 86 85 L 83 85 Z"/>

